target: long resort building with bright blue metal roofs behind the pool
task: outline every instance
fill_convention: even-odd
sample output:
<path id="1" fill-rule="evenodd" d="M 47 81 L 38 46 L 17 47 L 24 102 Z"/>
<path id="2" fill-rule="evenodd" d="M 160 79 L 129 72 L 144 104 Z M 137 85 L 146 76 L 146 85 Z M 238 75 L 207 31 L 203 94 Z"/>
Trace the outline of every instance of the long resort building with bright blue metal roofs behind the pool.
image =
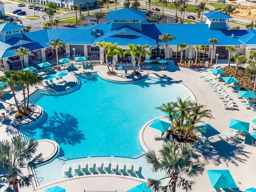
<path id="1" fill-rule="evenodd" d="M 210 58 L 212 44 L 210 38 L 217 38 L 219 44 L 215 45 L 214 56 L 218 53 L 220 59 L 228 58 L 226 46 L 236 47 L 237 54 L 244 54 L 250 57 L 248 52 L 256 49 L 256 30 L 228 30 L 226 22 L 232 18 L 221 12 L 210 12 L 204 14 L 208 19 L 205 23 L 199 24 L 154 24 L 146 21 L 146 13 L 140 10 L 123 8 L 111 11 L 105 24 L 78 27 L 75 30 L 46 29 L 37 32 L 22 33 L 23 26 L 4 23 L 0 24 L 0 46 L 4 49 L 0 52 L 0 59 L 6 68 L 12 68 L 16 58 L 12 50 L 19 46 L 28 48 L 31 56 L 24 57 L 24 64 L 27 67 L 32 61 L 44 62 L 55 57 L 55 51 L 51 50 L 48 43 L 52 39 L 59 38 L 66 43 L 66 50 L 60 50 L 60 56 L 70 57 L 73 54 L 81 56 L 92 56 L 104 61 L 104 50 L 96 45 L 97 42 L 118 43 L 123 50 L 128 50 L 128 44 L 148 44 L 152 56 L 146 55 L 144 59 L 180 58 L 180 43 L 188 46 L 183 50 L 184 58 L 195 58 L 195 46 L 200 45 L 201 50 L 198 58 Z M 175 37 L 168 42 L 159 39 L 159 35 L 167 33 Z M 41 38 L 38 38 L 41 37 Z M 73 52 L 73 50 L 76 52 Z M 10 59 L 12 58 L 12 59 Z M 130 56 L 114 58 L 115 62 L 132 62 Z M 142 59 L 143 60 L 143 59 Z M 17 61 L 18 62 L 18 61 Z"/>

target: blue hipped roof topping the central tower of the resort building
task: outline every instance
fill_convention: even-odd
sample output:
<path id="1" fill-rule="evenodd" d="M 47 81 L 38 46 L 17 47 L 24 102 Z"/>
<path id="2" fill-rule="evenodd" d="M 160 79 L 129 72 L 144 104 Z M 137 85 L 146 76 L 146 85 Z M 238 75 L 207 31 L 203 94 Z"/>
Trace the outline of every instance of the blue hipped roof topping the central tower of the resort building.
<path id="1" fill-rule="evenodd" d="M 110 11 L 106 20 L 146 20 L 146 12 L 131 8 L 124 8 Z"/>

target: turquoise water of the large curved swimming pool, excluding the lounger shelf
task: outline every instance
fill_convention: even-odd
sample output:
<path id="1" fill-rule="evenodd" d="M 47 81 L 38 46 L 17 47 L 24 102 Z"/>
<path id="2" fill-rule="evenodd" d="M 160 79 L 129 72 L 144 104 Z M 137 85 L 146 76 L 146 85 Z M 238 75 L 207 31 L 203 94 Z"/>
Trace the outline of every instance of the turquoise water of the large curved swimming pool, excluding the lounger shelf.
<path id="1" fill-rule="evenodd" d="M 194 99 L 181 84 L 155 77 L 132 83 L 108 82 L 96 73 L 77 78 L 82 84 L 79 90 L 62 96 L 44 95 L 35 102 L 43 108 L 45 120 L 29 128 L 37 140 L 56 141 L 69 159 L 136 157 L 143 152 L 138 139 L 142 126 L 164 116 L 155 107 L 178 96 Z"/>

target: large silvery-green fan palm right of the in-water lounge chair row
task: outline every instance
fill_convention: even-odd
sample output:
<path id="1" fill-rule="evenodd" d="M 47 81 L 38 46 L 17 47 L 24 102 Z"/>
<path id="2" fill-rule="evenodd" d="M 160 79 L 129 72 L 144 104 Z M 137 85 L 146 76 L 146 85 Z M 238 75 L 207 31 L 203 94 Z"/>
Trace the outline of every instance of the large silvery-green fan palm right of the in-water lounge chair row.
<path id="1" fill-rule="evenodd" d="M 154 192 L 176 192 L 176 186 L 182 190 L 191 190 L 193 181 L 187 178 L 197 177 L 204 172 L 204 163 L 199 160 L 199 155 L 187 145 L 180 145 L 175 140 L 165 142 L 160 155 L 156 156 L 154 150 L 146 153 L 146 160 L 152 165 L 152 171 L 166 172 L 166 176 L 160 179 L 148 179 L 148 187 Z M 162 180 L 166 180 L 162 182 Z"/>

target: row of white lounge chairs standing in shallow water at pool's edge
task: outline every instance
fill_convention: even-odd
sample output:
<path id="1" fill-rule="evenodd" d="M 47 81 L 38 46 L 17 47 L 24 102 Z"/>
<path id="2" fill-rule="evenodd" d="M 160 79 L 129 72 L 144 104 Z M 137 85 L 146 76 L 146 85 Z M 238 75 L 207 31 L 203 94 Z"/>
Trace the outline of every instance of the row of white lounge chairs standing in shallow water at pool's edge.
<path id="1" fill-rule="evenodd" d="M 122 175 L 130 175 L 130 176 L 138 176 L 140 172 L 140 165 L 131 163 L 116 163 L 109 161 L 97 161 L 96 164 L 94 162 L 81 162 L 73 164 L 73 175 L 81 176 L 87 174 L 122 174 Z M 63 167 L 63 177 L 69 178 L 71 177 L 71 167 L 69 165 L 65 165 Z"/>

